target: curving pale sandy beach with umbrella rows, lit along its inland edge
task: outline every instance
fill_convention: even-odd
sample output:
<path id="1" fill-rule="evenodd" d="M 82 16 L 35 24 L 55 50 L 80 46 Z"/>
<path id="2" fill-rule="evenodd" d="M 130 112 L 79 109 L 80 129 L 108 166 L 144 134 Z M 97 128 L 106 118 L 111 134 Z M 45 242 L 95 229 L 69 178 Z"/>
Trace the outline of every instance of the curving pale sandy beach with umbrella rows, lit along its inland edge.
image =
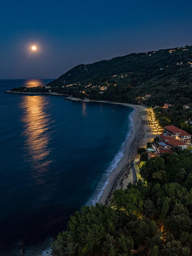
<path id="1" fill-rule="evenodd" d="M 133 161 L 138 156 L 137 150 L 140 147 L 145 147 L 148 141 L 152 141 L 153 138 L 157 136 L 157 130 L 153 124 L 142 124 L 142 120 L 151 120 L 148 114 L 140 114 L 140 112 L 143 113 L 144 111 L 149 113 L 147 107 L 126 103 L 123 105 L 135 109 L 135 111 L 131 114 L 133 116 L 133 128 L 125 148 L 124 156 L 120 160 L 118 166 L 113 170 L 113 172 L 111 172 L 108 184 L 104 188 L 103 194 L 99 199 L 99 203 L 102 204 L 109 203 L 112 192 L 115 189 L 127 188 L 129 182 L 136 182 Z"/>

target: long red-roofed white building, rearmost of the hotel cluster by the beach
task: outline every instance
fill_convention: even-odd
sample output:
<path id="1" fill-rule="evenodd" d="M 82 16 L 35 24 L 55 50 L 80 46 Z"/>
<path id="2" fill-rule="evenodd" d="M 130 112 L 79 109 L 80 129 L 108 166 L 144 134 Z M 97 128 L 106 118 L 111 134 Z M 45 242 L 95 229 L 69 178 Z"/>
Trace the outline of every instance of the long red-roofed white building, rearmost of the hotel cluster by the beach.
<path id="1" fill-rule="evenodd" d="M 180 140 L 185 143 L 191 142 L 191 134 L 188 132 L 183 131 L 180 128 L 175 127 L 174 125 L 168 125 L 164 127 L 164 133 L 171 134 L 177 140 Z"/>

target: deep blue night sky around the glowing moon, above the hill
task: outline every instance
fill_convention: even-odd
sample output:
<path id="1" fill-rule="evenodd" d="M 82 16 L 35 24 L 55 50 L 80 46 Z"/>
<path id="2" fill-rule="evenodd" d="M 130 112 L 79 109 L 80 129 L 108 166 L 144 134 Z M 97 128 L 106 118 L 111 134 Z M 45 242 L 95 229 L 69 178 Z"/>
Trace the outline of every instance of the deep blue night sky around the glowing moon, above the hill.
<path id="1" fill-rule="evenodd" d="M 56 78 L 78 64 L 192 44 L 192 1 L 10 0 L 0 9 L 0 79 Z"/>

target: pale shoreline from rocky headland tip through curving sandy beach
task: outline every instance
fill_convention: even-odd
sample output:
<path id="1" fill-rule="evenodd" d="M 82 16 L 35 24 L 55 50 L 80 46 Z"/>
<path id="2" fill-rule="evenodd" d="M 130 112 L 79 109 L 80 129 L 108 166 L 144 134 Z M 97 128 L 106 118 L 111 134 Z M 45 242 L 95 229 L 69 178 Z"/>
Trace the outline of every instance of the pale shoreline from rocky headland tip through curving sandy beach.
<path id="1" fill-rule="evenodd" d="M 152 141 L 157 135 L 157 131 L 152 124 L 142 124 L 143 120 L 150 120 L 150 116 L 141 115 L 140 112 L 147 111 L 147 107 L 143 105 L 134 105 L 128 103 L 118 103 L 112 101 L 102 101 L 102 100 L 89 100 L 89 99 L 79 99 L 71 95 L 58 94 L 57 92 L 17 92 L 17 91 L 6 91 L 5 93 L 13 94 L 35 94 L 35 95 L 53 95 L 53 96 L 68 96 L 65 100 L 70 101 L 81 101 L 81 102 L 102 102 L 110 104 L 119 104 L 134 108 L 134 111 L 130 114 L 132 117 L 131 124 L 132 130 L 130 131 L 127 145 L 125 146 L 124 155 L 120 159 L 117 167 L 110 173 L 108 181 L 106 182 L 105 188 L 100 192 L 101 196 L 98 197 L 97 202 L 104 205 L 109 204 L 112 193 L 115 189 L 125 189 L 129 182 L 136 182 L 136 173 L 134 170 L 134 159 L 138 157 L 137 150 L 140 147 L 145 147 L 147 142 Z M 150 132 L 147 132 L 147 130 Z"/>

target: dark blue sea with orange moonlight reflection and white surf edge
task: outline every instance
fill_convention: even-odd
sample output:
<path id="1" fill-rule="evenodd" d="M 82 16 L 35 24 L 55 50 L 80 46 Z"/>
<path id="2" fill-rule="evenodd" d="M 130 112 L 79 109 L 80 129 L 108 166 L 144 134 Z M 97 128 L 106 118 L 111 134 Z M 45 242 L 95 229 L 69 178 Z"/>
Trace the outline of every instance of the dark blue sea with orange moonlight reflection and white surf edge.
<path id="1" fill-rule="evenodd" d="M 66 228 L 73 212 L 95 204 L 131 129 L 133 108 L 127 106 L 3 93 L 50 81 L 0 80 L 3 256 L 21 248 L 36 255 Z"/>

